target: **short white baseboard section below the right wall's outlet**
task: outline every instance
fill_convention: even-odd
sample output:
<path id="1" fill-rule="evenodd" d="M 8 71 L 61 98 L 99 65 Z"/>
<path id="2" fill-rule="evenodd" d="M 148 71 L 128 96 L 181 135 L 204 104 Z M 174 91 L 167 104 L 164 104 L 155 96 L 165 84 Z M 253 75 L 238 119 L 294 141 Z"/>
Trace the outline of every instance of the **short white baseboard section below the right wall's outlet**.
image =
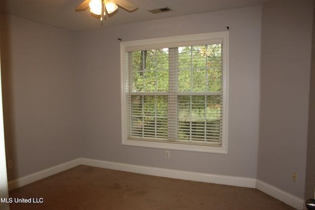
<path id="1" fill-rule="evenodd" d="M 260 180 L 256 180 L 256 189 L 284 202 L 285 204 L 297 210 L 304 209 L 304 200 L 294 195 L 291 195 L 275 186 L 272 186 Z"/>

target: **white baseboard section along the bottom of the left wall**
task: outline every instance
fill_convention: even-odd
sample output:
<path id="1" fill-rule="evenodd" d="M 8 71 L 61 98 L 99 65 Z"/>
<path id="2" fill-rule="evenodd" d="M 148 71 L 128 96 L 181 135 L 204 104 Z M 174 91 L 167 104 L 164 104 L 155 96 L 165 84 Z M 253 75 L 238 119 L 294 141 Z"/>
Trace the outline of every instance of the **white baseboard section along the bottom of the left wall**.
<path id="1" fill-rule="evenodd" d="M 29 183 L 32 183 L 34 181 L 38 181 L 41 179 L 44 179 L 46 177 L 52 176 L 54 174 L 60 173 L 62 171 L 68 170 L 70 168 L 73 168 L 75 166 L 78 166 L 81 164 L 81 158 L 77 158 L 74 160 L 70 160 L 68 162 L 50 167 L 48 169 L 44 169 L 39 172 L 35 172 L 33 174 L 27 175 L 25 177 L 21 177 L 16 180 L 12 180 L 8 182 L 8 190 L 12 190 L 24 185 L 27 185 Z"/>

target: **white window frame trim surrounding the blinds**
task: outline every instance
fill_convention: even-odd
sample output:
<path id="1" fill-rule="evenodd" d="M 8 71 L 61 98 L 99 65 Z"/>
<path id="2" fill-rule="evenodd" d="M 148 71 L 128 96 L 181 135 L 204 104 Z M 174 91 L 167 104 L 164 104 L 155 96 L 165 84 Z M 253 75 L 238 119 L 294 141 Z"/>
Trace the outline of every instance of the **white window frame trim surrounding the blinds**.
<path id="1" fill-rule="evenodd" d="M 222 145 L 207 146 L 207 145 L 193 145 L 183 144 L 177 142 L 154 142 L 154 141 L 141 141 L 131 140 L 127 138 L 127 105 L 126 105 L 126 52 L 138 51 L 147 49 L 158 48 L 171 48 L 178 47 L 181 44 L 202 45 L 213 43 L 216 40 L 222 40 L 222 82 L 223 82 L 223 113 L 222 113 Z M 202 33 L 183 36 L 172 36 L 155 39 L 123 41 L 120 45 L 121 53 L 121 117 L 122 117 L 122 144 L 129 146 L 160 148 L 170 150 L 189 150 L 200 152 L 214 152 L 214 153 L 227 153 L 228 142 L 228 31 Z"/>

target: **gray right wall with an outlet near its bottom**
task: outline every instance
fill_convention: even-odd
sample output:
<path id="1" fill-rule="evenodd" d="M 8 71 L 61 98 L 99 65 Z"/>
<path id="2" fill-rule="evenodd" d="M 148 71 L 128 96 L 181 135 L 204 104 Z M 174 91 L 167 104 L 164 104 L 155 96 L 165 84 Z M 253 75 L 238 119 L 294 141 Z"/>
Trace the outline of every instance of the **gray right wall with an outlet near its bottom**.
<path id="1" fill-rule="evenodd" d="M 312 14 L 312 0 L 273 0 L 262 7 L 257 179 L 299 198 L 306 176 Z"/>

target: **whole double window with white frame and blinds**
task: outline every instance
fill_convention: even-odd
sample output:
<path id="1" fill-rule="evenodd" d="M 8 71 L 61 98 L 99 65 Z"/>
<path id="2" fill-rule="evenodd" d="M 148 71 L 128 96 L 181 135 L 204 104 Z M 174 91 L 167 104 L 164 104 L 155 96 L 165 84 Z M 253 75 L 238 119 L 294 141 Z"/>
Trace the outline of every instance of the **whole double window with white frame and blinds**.
<path id="1" fill-rule="evenodd" d="M 228 32 L 121 42 L 122 143 L 227 153 Z"/>

